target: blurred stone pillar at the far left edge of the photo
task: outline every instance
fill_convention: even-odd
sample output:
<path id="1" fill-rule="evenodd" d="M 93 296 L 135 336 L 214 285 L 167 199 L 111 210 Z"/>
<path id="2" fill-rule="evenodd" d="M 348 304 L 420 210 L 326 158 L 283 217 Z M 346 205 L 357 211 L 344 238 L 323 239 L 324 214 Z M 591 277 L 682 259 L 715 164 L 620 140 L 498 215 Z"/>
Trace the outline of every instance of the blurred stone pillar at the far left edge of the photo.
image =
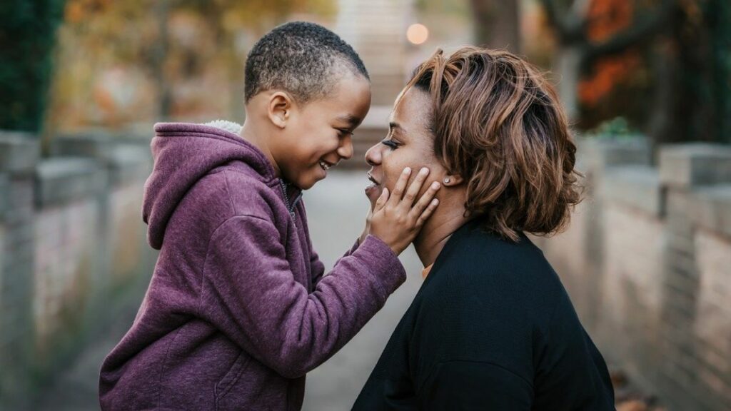
<path id="1" fill-rule="evenodd" d="M 29 406 L 34 346 L 34 170 L 39 143 L 33 135 L 0 132 L 0 409 Z"/>

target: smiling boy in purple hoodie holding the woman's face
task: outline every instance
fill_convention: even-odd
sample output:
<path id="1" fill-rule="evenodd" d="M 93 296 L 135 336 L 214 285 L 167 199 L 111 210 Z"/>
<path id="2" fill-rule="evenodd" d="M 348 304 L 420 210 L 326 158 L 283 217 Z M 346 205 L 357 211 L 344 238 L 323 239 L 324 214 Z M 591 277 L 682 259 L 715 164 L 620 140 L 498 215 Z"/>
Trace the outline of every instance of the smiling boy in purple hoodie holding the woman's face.
<path id="1" fill-rule="evenodd" d="M 246 123 L 157 124 L 145 184 L 160 249 L 135 323 L 102 365 L 105 410 L 299 410 L 305 373 L 333 355 L 405 279 L 396 257 L 436 207 L 425 181 L 371 210 L 322 276 L 300 201 L 352 156 L 370 84 L 352 48 L 288 23 L 246 61 Z M 238 133 L 238 134 L 237 134 Z M 403 198 L 402 198 L 403 195 Z"/>

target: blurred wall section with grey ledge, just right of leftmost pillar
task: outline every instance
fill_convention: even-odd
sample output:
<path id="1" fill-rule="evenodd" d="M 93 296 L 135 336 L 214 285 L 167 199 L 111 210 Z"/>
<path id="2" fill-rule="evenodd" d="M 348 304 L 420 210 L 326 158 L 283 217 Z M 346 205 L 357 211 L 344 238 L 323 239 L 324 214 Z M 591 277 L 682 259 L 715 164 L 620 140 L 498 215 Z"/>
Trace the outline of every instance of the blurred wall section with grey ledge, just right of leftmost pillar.
<path id="1" fill-rule="evenodd" d="M 39 375 L 51 376 L 105 322 L 107 173 L 93 159 L 43 159 L 36 167 L 34 324 Z"/>

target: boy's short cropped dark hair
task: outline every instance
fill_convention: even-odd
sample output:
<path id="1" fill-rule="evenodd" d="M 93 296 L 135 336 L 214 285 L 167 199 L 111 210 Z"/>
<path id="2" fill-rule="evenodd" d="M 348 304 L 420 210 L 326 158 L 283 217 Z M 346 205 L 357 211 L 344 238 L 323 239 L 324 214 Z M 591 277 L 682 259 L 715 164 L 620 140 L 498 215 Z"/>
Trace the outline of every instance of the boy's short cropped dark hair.
<path id="1" fill-rule="evenodd" d="M 315 23 L 285 23 L 249 51 L 244 97 L 249 102 L 262 91 L 281 88 L 298 102 L 309 102 L 327 96 L 343 69 L 370 80 L 363 61 L 337 34 Z"/>

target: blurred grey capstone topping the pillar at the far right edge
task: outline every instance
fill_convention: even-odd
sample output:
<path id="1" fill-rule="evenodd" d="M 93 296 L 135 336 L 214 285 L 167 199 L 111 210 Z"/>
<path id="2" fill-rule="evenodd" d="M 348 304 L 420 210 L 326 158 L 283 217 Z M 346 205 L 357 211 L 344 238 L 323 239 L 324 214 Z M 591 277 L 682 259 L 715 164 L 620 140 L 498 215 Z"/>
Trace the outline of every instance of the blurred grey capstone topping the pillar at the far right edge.
<path id="1" fill-rule="evenodd" d="M 660 149 L 660 181 L 681 189 L 731 183 L 731 146 L 684 143 Z"/>

